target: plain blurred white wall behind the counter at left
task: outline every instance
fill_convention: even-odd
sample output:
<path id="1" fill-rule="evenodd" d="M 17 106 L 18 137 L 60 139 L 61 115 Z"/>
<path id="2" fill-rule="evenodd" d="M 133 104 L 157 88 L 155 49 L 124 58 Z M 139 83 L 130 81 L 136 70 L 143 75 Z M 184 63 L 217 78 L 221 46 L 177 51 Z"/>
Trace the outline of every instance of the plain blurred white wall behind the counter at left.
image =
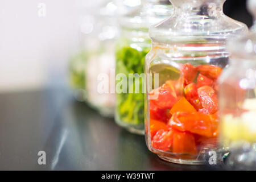
<path id="1" fill-rule="evenodd" d="M 39 3 L 46 5 L 45 17 L 38 16 Z M 0 93 L 65 84 L 68 59 L 78 48 L 79 15 L 90 4 L 96 3 L 1 0 Z"/>

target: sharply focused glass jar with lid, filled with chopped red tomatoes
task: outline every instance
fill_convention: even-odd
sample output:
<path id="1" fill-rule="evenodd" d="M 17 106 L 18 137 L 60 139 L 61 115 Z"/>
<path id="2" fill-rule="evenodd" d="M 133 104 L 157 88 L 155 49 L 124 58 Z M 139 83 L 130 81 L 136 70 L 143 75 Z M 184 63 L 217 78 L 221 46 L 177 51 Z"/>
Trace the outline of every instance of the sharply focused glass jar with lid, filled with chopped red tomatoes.
<path id="1" fill-rule="evenodd" d="M 204 164 L 217 150 L 218 82 L 225 42 L 247 32 L 224 0 L 172 0 L 174 14 L 150 28 L 146 56 L 146 143 L 163 160 Z"/>

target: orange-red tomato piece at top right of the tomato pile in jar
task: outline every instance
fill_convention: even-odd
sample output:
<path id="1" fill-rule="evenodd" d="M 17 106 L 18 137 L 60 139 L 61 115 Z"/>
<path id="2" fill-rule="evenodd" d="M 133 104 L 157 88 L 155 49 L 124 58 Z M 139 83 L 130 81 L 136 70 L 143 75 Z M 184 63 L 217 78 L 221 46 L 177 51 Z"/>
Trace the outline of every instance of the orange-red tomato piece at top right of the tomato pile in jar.
<path id="1" fill-rule="evenodd" d="M 222 72 L 222 69 L 216 65 L 199 65 L 197 69 L 202 75 L 212 79 L 217 79 Z"/>

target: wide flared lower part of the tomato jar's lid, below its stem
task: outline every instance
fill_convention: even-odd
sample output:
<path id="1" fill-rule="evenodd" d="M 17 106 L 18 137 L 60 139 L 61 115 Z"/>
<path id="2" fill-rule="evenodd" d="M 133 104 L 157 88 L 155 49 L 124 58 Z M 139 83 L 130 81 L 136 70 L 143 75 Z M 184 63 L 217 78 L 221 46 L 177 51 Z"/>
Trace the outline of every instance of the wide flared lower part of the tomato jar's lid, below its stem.
<path id="1" fill-rule="evenodd" d="M 150 27 L 152 40 L 172 43 L 201 40 L 225 40 L 248 32 L 246 24 L 221 14 L 217 18 L 205 15 L 189 17 L 172 15 L 157 26 Z"/>

